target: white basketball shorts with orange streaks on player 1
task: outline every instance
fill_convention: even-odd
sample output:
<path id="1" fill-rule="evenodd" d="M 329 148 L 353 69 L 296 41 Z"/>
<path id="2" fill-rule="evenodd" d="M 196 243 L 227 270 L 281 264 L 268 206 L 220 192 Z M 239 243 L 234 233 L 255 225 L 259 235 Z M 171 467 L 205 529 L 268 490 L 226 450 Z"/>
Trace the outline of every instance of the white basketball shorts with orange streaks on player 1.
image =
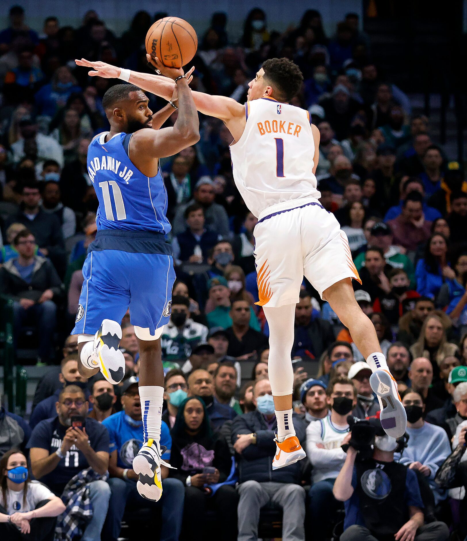
<path id="1" fill-rule="evenodd" d="M 288 203 L 290 206 L 290 202 Z M 278 209 L 279 207 L 279 209 Z M 255 262 L 260 306 L 299 302 L 303 275 L 319 294 L 344 278 L 360 280 L 347 235 L 334 214 L 319 201 L 280 210 L 260 220 L 254 229 Z"/>

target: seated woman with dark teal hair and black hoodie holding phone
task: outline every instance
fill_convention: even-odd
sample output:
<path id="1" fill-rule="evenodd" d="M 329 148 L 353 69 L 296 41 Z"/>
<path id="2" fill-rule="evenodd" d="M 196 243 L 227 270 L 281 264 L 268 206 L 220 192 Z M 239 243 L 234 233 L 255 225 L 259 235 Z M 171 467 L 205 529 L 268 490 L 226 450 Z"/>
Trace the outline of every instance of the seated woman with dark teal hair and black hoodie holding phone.
<path id="1" fill-rule="evenodd" d="M 192 541 L 206 539 L 205 514 L 215 512 L 222 539 L 235 541 L 237 537 L 238 495 L 231 485 L 224 483 L 232 469 L 232 458 L 227 442 L 213 434 L 200 397 L 188 397 L 177 413 L 172 428 L 170 477 L 185 485 L 185 506 L 182 529 Z M 214 490 L 213 490 L 214 489 Z M 216 490 L 215 490 L 216 489 Z M 196 527 L 193 525 L 196 524 Z"/>

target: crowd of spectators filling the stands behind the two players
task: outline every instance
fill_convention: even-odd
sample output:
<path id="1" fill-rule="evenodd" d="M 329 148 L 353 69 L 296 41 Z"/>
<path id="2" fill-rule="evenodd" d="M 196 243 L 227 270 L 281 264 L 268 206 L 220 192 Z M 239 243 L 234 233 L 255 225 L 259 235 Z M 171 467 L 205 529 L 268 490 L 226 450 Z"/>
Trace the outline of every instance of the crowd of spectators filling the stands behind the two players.
<path id="1" fill-rule="evenodd" d="M 443 541 L 448 526 L 463 540 L 465 491 L 454 489 L 467 484 L 467 182 L 462 164 L 433 143 L 430 119 L 412 114 L 409 97 L 378 68 L 358 16 L 349 13 L 327 36 L 310 9 L 281 34 L 255 8 L 237 40 L 216 13 L 200 36 L 191 85 L 243 102 L 267 58 L 299 65 L 304 84 L 292 103 L 320 131 L 320 202 L 348 236 L 362 281 L 355 298 L 397 381 L 409 439 L 396 452 L 375 440 L 374 488 L 363 493 L 356 453 L 341 445 L 348 415 L 374 417 L 380 406 L 348 329 L 304 281 L 292 355 L 294 425 L 307 459 L 272 470 L 257 219 L 233 183 L 231 134 L 201 115 L 200 142 L 161 161 L 177 272 L 161 337 L 161 445 L 176 469 L 163 466 L 157 503 L 139 496 L 132 470 L 143 429 L 129 316 L 120 342 L 125 378 L 115 387 L 79 375 L 77 337 L 69 335 L 96 235 L 87 146 L 109 127 L 101 100 L 116 83 L 87 76 L 74 59 L 150 72 L 144 38 L 154 19 L 140 11 L 117 37 L 92 10 L 79 28 L 48 17 L 40 34 L 21 7 L 9 17 L 0 31 L 0 294 L 13 300 L 16 351 L 33 352 L 23 362 L 50 366 L 29 417 L 0 409 L 0 533 L 117 541 L 133 521 L 133 531 L 146 524 L 164 540 L 321 541 L 337 539 L 345 517 L 343 541 L 411 533 Z M 151 108 L 163 105 L 149 97 Z M 387 488 L 383 470 L 390 498 L 377 490 Z M 362 509 L 381 510 L 386 497 L 378 525 Z"/>

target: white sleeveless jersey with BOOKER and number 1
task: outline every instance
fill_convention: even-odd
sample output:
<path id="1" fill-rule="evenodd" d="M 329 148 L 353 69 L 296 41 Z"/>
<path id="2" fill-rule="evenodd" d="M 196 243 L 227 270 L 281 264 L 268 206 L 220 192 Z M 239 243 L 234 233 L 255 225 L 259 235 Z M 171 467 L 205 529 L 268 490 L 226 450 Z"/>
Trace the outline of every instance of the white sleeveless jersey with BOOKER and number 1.
<path id="1" fill-rule="evenodd" d="M 245 104 L 246 126 L 230 147 L 233 176 L 246 206 L 261 219 L 317 200 L 315 144 L 308 111 L 265 97 Z"/>

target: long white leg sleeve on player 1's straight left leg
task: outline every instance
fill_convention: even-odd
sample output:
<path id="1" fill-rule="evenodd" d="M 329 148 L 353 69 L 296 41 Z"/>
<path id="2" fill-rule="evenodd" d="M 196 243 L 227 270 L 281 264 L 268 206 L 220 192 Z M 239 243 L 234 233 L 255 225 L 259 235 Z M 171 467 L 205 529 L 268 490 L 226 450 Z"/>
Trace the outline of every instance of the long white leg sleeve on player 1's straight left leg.
<path id="1" fill-rule="evenodd" d="M 294 371 L 292 346 L 294 345 L 295 305 L 263 308 L 269 325 L 268 375 L 275 397 L 293 393 Z"/>

